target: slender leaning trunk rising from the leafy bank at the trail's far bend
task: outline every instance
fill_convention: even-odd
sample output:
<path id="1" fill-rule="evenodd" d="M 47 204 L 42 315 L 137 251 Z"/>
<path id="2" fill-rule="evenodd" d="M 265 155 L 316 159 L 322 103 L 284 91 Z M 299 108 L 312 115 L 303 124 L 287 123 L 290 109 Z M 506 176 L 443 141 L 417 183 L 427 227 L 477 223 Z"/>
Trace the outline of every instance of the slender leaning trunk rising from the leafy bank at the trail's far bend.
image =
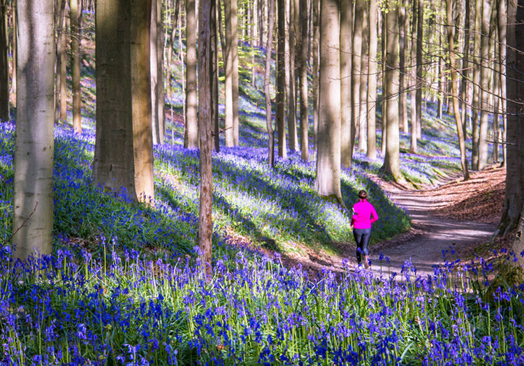
<path id="1" fill-rule="evenodd" d="M 466 144 L 464 139 L 464 129 L 460 120 L 460 109 L 458 107 L 458 77 L 455 66 L 455 26 L 453 25 L 453 7 L 452 0 L 446 0 L 447 14 L 447 35 L 448 35 L 448 52 L 449 52 L 449 69 L 451 72 L 451 100 L 453 101 L 453 110 L 455 112 L 455 122 L 457 125 L 458 145 L 460 147 L 460 163 L 462 165 L 464 180 L 470 179 L 470 172 L 467 168 Z"/>

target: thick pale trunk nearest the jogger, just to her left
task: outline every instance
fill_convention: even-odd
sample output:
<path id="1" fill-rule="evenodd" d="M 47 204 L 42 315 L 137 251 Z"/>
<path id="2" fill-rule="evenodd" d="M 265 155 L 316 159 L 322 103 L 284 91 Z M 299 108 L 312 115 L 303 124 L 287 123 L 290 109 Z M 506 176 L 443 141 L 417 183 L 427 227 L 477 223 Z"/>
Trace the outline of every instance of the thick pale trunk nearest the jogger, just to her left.
<path id="1" fill-rule="evenodd" d="M 340 191 L 340 8 L 337 0 L 321 0 L 320 4 L 320 119 L 315 189 L 319 196 L 335 198 L 344 205 Z"/>

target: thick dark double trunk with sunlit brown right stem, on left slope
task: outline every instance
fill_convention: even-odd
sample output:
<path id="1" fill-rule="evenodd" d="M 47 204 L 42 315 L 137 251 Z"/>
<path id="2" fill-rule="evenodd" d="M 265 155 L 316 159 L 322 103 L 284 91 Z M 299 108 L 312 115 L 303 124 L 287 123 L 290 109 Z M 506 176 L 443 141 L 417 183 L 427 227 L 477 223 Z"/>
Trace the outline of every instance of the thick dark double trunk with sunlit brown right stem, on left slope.
<path id="1" fill-rule="evenodd" d="M 96 2 L 94 183 L 154 200 L 150 0 Z"/>

